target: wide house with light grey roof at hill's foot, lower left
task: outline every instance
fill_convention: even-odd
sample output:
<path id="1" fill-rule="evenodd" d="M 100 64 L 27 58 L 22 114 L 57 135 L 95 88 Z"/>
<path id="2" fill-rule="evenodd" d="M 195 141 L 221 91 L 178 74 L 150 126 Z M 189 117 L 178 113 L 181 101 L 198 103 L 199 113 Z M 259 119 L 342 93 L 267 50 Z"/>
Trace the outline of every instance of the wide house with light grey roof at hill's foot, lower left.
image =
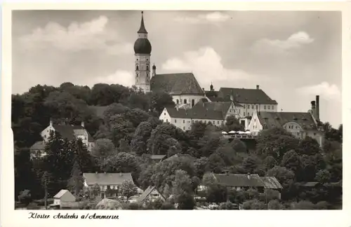
<path id="1" fill-rule="evenodd" d="M 131 181 L 134 184 L 133 177 L 130 172 L 124 173 L 84 173 L 84 187 L 92 188 L 95 184 L 100 186 L 101 198 L 106 197 L 106 193 L 111 194 L 111 197 L 116 197 L 119 187 L 124 181 Z M 108 191 L 107 191 L 108 189 Z M 107 192 L 106 192 L 107 191 Z M 110 192 L 109 192 L 110 191 Z"/>

